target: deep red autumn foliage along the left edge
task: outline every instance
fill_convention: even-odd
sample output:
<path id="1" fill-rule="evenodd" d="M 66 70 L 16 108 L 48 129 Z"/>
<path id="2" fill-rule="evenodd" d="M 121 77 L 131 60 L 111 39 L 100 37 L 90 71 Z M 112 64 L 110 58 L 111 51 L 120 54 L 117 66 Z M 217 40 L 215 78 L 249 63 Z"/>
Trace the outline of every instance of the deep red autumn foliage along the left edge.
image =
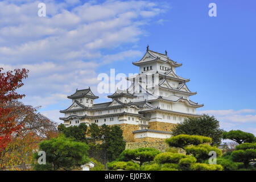
<path id="1" fill-rule="evenodd" d="M 27 69 L 15 69 L 14 71 L 2 72 L 0 68 L 0 151 L 10 142 L 11 134 L 22 130 L 23 123 L 18 123 L 18 117 L 14 112 L 14 107 L 9 107 L 10 103 L 23 98 L 24 94 L 18 94 L 16 89 L 24 84 L 23 78 L 27 78 Z"/>

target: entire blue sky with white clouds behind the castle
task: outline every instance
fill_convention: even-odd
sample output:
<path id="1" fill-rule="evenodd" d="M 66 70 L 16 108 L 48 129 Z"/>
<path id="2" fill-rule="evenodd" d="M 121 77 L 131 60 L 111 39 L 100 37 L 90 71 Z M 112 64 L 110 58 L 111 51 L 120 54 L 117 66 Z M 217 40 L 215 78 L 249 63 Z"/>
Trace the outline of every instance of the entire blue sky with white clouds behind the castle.
<path id="1" fill-rule="evenodd" d="M 46 16 L 39 16 L 45 3 Z M 217 16 L 209 16 L 210 3 Z M 56 122 L 67 99 L 90 86 L 98 94 L 100 73 L 138 73 L 146 47 L 183 63 L 189 78 L 221 128 L 256 134 L 256 2 L 197 1 L 0 1 L 0 67 L 30 70 L 19 93 L 24 104 Z"/>

